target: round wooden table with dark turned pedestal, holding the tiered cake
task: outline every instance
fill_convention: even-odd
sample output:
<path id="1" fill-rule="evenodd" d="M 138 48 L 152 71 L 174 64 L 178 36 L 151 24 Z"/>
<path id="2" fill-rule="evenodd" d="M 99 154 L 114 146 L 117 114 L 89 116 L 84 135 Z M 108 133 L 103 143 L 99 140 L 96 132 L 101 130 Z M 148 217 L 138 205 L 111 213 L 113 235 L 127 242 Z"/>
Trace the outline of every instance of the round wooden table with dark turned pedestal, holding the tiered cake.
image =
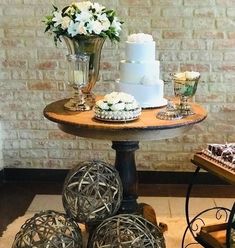
<path id="1" fill-rule="evenodd" d="M 207 112 L 192 103 L 194 115 L 181 120 L 159 120 L 160 109 L 146 109 L 138 120 L 126 123 L 103 122 L 94 119 L 94 112 L 69 112 L 64 109 L 67 99 L 53 102 L 44 109 L 44 116 L 58 124 L 62 131 L 79 137 L 112 141 L 116 151 L 115 167 L 123 183 L 123 201 L 120 213 L 134 213 L 137 204 L 137 173 L 135 151 L 139 141 L 173 138 L 188 132 L 194 124 L 203 121 Z"/>

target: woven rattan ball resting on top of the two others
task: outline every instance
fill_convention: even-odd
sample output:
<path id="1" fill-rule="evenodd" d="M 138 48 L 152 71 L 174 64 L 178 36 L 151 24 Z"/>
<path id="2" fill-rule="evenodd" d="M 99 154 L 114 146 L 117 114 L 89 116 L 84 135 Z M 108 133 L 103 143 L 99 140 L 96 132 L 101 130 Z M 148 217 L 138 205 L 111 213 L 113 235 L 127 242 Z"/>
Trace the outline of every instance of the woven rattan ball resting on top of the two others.
<path id="1" fill-rule="evenodd" d="M 63 188 L 66 213 L 76 221 L 97 224 L 114 215 L 122 200 L 119 173 L 102 161 L 84 161 L 71 170 Z"/>

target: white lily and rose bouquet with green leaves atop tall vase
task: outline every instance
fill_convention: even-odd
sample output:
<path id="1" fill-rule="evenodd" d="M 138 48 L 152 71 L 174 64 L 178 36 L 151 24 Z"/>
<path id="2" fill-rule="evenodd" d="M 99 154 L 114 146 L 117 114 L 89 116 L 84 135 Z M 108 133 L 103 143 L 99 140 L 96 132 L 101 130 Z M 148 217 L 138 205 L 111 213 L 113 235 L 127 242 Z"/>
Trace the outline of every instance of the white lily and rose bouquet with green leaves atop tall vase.
<path id="1" fill-rule="evenodd" d="M 76 38 L 77 36 L 98 35 L 108 37 L 111 41 L 119 41 L 122 21 L 114 10 L 107 10 L 99 3 L 90 1 L 74 2 L 59 10 L 54 6 L 51 15 L 45 17 L 45 32 L 54 34 L 54 41 L 61 36 Z"/>

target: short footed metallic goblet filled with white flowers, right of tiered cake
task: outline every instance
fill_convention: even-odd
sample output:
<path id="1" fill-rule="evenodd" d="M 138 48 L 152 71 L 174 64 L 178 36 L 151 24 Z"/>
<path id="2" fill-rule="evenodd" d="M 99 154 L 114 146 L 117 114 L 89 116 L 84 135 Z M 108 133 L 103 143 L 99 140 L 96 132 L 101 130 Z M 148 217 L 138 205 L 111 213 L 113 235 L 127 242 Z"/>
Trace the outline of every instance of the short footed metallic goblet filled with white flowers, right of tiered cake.
<path id="1" fill-rule="evenodd" d="M 172 80 L 174 86 L 174 94 L 180 99 L 180 102 L 177 107 L 183 116 L 194 114 L 190 106 L 189 100 L 195 95 L 197 91 L 199 79 L 199 72 L 186 71 L 173 74 Z"/>

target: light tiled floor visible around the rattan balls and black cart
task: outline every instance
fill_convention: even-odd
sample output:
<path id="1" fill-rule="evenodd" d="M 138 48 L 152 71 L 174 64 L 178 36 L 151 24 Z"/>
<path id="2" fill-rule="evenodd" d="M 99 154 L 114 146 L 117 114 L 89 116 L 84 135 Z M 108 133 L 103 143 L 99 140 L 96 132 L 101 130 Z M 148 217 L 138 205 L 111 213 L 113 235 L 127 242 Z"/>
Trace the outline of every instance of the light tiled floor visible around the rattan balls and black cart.
<path id="1" fill-rule="evenodd" d="M 157 216 L 158 222 L 166 223 L 168 231 L 164 234 L 166 246 L 169 248 L 181 247 L 182 237 L 186 228 L 185 220 L 185 198 L 184 197 L 139 197 L 139 202 L 151 205 Z M 233 198 L 196 198 L 190 199 L 190 219 L 201 211 L 216 206 L 231 209 Z M 36 195 L 29 206 L 27 213 L 33 214 L 41 210 L 54 209 L 63 212 L 61 195 Z M 215 212 L 209 212 L 203 216 L 206 224 L 215 224 Z M 224 220 L 223 220 L 224 221 Z M 190 233 L 186 235 L 185 243 L 193 241 Z M 186 246 L 184 246 L 186 247 Z M 201 248 L 199 244 L 195 248 Z"/>

